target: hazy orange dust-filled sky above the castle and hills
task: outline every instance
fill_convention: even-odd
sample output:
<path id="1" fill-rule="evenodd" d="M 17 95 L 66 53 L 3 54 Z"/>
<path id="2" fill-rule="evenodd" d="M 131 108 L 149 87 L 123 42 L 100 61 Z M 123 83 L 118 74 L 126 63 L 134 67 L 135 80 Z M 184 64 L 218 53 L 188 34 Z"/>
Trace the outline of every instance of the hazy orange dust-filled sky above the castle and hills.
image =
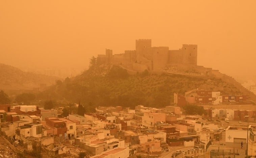
<path id="1" fill-rule="evenodd" d="M 256 1 L 0 1 L 0 63 L 86 68 L 89 58 L 135 50 L 135 39 L 179 49 L 198 65 L 255 75 Z"/>

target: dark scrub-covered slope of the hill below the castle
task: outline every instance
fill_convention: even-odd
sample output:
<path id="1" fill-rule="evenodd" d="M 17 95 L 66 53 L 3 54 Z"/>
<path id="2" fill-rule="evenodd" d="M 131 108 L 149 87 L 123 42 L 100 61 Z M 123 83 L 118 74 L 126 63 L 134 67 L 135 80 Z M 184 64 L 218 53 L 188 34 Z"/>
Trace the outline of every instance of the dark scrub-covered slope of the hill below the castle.
<path id="1" fill-rule="evenodd" d="M 172 104 L 174 93 L 184 94 L 196 88 L 241 94 L 236 87 L 217 78 L 155 74 L 147 70 L 129 75 L 117 65 L 94 65 L 75 78 L 57 82 L 37 94 L 37 99 L 93 102 L 96 106 L 164 107 Z"/>

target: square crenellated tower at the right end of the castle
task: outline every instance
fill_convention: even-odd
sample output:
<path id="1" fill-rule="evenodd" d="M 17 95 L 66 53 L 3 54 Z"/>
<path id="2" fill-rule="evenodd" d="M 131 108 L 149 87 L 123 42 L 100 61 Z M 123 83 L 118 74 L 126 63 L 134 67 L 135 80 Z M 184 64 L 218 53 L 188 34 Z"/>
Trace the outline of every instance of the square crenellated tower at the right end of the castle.
<path id="1" fill-rule="evenodd" d="M 182 64 L 197 65 L 197 45 L 182 45 Z"/>

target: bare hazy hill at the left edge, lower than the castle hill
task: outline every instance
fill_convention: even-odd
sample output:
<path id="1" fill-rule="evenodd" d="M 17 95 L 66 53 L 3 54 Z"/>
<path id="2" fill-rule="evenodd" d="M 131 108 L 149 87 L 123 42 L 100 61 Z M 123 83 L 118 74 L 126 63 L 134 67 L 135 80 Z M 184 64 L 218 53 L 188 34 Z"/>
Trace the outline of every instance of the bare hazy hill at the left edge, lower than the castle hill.
<path id="1" fill-rule="evenodd" d="M 14 66 L 0 63 L 1 90 L 28 90 L 40 87 L 40 84 L 53 85 L 58 77 L 24 72 Z"/>

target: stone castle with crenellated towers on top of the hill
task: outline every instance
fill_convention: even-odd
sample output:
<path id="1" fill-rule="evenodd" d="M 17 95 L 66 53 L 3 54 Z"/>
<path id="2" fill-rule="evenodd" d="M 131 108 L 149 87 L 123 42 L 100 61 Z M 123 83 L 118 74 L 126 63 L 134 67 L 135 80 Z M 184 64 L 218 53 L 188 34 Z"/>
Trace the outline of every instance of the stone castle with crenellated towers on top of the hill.
<path id="1" fill-rule="evenodd" d="M 117 64 L 137 72 L 160 70 L 171 65 L 197 66 L 197 45 L 183 44 L 179 50 L 169 50 L 168 46 L 151 46 L 151 39 L 138 39 L 135 50 L 114 54 L 106 49 L 105 55 L 98 55 L 99 64 Z"/>

